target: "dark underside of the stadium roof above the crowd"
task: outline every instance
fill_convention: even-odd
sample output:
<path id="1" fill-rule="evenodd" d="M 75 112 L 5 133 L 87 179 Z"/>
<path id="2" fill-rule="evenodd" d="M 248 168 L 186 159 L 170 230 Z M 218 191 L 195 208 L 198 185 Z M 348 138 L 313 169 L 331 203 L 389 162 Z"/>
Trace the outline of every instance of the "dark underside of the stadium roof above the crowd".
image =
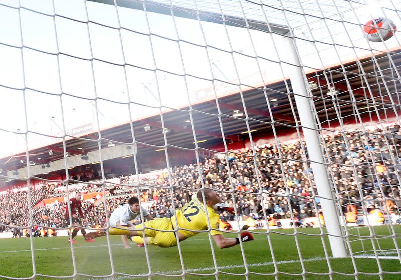
<path id="1" fill-rule="evenodd" d="M 378 67 L 374 63 L 374 60 L 379 64 L 384 78 L 379 78 L 375 74 L 378 71 Z M 395 76 L 394 65 L 391 65 L 391 61 L 395 64 L 398 72 L 401 71 L 401 49 L 392 50 L 391 59 L 388 58 L 386 53 L 382 53 L 374 57 L 365 57 L 360 60 L 360 63 L 350 61 L 344 64 L 344 68 L 341 68 L 341 65 L 335 65 L 327 70 L 307 73 L 308 81 L 318 85 L 316 89 L 312 90 L 313 101 L 318 112 L 319 121 L 323 127 L 327 127 L 329 124 L 332 125 L 333 121 L 335 122 L 338 119 L 333 102 L 336 103 L 337 107 L 341 108 L 340 113 L 344 122 L 347 122 L 347 120 L 350 122 L 355 121 L 354 100 L 352 100 L 351 94 L 349 94 L 347 82 L 352 88 L 355 101 L 359 101 L 356 106 L 362 117 L 370 115 L 374 119 L 376 115 L 372 96 L 379 112 L 390 116 L 393 116 L 395 113 L 399 114 L 400 97 L 398 92 L 400 92 L 401 86 L 399 78 Z M 344 70 L 346 71 L 346 75 L 343 74 Z M 360 74 L 361 72 L 366 73 L 365 79 Z M 334 101 L 332 100 L 333 95 L 327 93 L 328 85 L 326 77 L 329 80 L 330 87 L 340 90 L 337 92 L 336 100 Z M 370 85 L 372 96 L 367 90 L 366 82 Z M 289 87 L 289 91 L 292 92 L 291 83 L 288 79 L 266 84 L 265 90 L 263 89 L 263 85 L 261 85 L 242 92 L 249 117 L 249 128 L 250 130 L 256 130 L 252 132 L 253 137 L 266 137 L 270 135 L 272 133 L 272 124 L 274 124 L 277 134 L 289 131 L 295 132 L 296 120 L 294 119 L 292 109 L 294 109 L 295 115 L 297 115 L 297 109 L 293 94 L 287 93 L 286 84 Z M 391 109 L 392 106 L 386 87 L 391 92 L 397 112 Z M 266 98 L 269 99 L 273 118 L 268 110 Z M 242 133 L 247 131 L 245 115 L 233 117 L 233 112 L 236 110 L 239 113 L 244 112 L 240 92 L 231 92 L 219 98 L 219 107 L 221 110 L 222 127 L 227 142 L 249 139 L 248 133 Z M 218 108 L 214 99 L 193 104 L 192 116 L 197 141 L 203 141 L 202 143 L 198 143 L 200 147 L 216 147 L 223 144 Z M 169 145 L 187 149 L 195 148 L 191 123 L 189 122 L 190 114 L 188 107 L 163 113 L 163 120 L 165 127 L 169 130 L 166 133 Z M 144 129 L 146 124 L 150 125 L 151 129 L 149 131 L 145 131 Z M 133 131 L 135 140 L 138 143 L 138 156 L 146 156 L 149 152 L 154 152 L 156 149 L 164 146 L 164 134 L 162 132 L 160 115 L 134 121 Z M 102 148 L 107 147 L 109 142 L 115 144 L 129 144 L 133 142 L 129 123 L 105 129 L 101 131 L 101 136 Z M 99 149 L 98 142 L 96 141 L 97 138 L 97 132 L 80 138 L 69 138 L 66 140 L 66 150 L 69 155 L 96 151 Z M 35 159 L 38 157 L 37 154 L 40 154 L 41 160 L 35 160 L 36 164 L 46 164 L 63 159 L 63 151 L 63 142 L 60 142 L 30 150 L 29 153 Z M 21 159 L 24 160 L 20 162 Z M 0 168 L 2 169 L 2 173 L 17 170 L 26 167 L 26 163 L 24 162 L 25 152 L 12 157 L 1 158 Z"/>

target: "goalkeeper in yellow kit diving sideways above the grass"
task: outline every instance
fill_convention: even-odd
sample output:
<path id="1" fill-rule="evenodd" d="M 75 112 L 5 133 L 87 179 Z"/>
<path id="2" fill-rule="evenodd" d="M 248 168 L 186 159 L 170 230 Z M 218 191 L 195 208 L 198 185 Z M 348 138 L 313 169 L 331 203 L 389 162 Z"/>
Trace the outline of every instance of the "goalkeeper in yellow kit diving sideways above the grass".
<path id="1" fill-rule="evenodd" d="M 252 241 L 254 238 L 249 232 L 242 232 L 241 238 L 226 238 L 223 236 L 221 231 L 218 231 L 219 215 L 215 213 L 215 210 L 226 210 L 234 213 L 233 208 L 220 207 L 216 204 L 220 202 L 216 191 L 211 189 L 205 189 L 205 200 L 206 208 L 202 201 L 202 192 L 198 192 L 189 203 L 185 204 L 180 210 L 176 210 L 177 221 L 175 216 L 171 218 L 156 218 L 154 220 L 146 221 L 144 224 L 138 224 L 134 227 L 136 230 L 127 230 L 123 228 L 109 228 L 109 234 L 111 235 L 126 235 L 132 236 L 131 240 L 143 244 L 156 245 L 159 247 L 174 247 L 177 245 L 177 238 L 179 241 L 183 241 L 189 237 L 192 237 L 199 232 L 189 230 L 207 230 L 208 219 L 206 211 L 208 211 L 209 223 L 211 225 L 211 235 L 215 240 L 216 245 L 223 249 L 229 248 L 239 244 L 240 242 Z M 143 231 L 143 227 L 147 228 Z M 179 228 L 175 234 L 174 229 Z M 157 230 L 164 231 L 157 231 Z M 165 232 L 170 231 L 170 232 Z M 145 238 L 143 238 L 143 232 Z M 97 238 L 105 236 L 106 231 L 95 231 L 86 234 L 86 238 Z"/>

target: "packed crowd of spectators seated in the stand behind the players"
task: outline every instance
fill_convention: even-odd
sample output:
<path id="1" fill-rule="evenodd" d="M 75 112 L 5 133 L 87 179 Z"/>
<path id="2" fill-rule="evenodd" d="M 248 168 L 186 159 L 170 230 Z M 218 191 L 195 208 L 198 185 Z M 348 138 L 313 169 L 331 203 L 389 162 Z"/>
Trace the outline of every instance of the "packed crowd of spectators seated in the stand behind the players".
<path id="1" fill-rule="evenodd" d="M 349 211 L 348 205 L 359 210 L 379 208 L 399 212 L 401 129 L 399 125 L 391 125 L 385 131 L 372 129 L 365 136 L 362 137 L 360 131 L 324 136 L 325 160 L 330 163 L 329 174 L 338 203 L 344 212 Z M 155 187 L 141 189 L 141 202 L 146 203 L 153 217 L 170 217 L 174 208 L 185 205 L 196 189 L 205 185 L 217 190 L 229 205 L 235 204 L 242 218 L 302 219 L 316 216 L 320 200 L 316 197 L 316 186 L 311 184 L 313 174 L 310 166 L 304 162 L 305 143 L 280 143 L 279 149 L 274 144 L 265 144 L 256 147 L 255 151 L 254 157 L 252 149 L 246 148 L 229 152 L 227 156 L 216 154 L 203 158 L 199 166 L 195 163 L 175 166 L 171 170 L 173 192 L 169 189 L 168 175 L 161 176 L 147 183 Z M 129 176 L 121 176 L 120 183 L 130 183 Z M 65 195 L 55 189 L 54 184 L 31 189 L 32 205 L 44 198 Z M 136 193 L 136 188 L 128 185 L 108 183 L 107 189 L 106 205 L 104 202 L 96 203 L 93 209 L 87 210 L 89 203 L 83 203 L 84 212 L 88 213 L 84 222 L 87 226 L 104 226 L 106 213 L 110 215 Z M 88 193 L 101 191 L 101 188 L 87 184 L 81 191 Z M 27 191 L 8 191 L 0 195 L 0 223 L 27 225 L 27 198 Z M 64 211 L 65 204 L 58 201 L 46 207 L 35 207 L 34 223 L 66 227 Z M 229 221 L 235 216 L 224 212 L 221 218 Z M 9 230 L 4 226 L 0 227 L 2 229 Z"/>

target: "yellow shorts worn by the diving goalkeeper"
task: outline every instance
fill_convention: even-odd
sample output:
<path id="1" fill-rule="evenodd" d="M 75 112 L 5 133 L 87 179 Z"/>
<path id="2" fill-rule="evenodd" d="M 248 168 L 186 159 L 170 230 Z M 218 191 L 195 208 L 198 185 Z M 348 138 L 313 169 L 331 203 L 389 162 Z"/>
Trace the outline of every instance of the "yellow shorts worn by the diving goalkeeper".
<path id="1" fill-rule="evenodd" d="M 145 221 L 145 226 L 154 228 L 154 229 L 159 229 L 159 230 L 171 230 L 171 231 L 173 230 L 171 220 L 168 218 L 156 218 L 153 220 Z M 135 225 L 135 228 L 140 230 L 143 228 L 143 224 L 141 223 L 141 224 Z M 131 240 L 136 243 L 143 244 L 143 238 L 142 238 L 143 231 L 137 231 L 137 232 L 139 233 L 140 237 L 139 236 L 132 237 Z M 152 237 L 150 239 L 151 240 L 150 244 L 156 245 L 156 246 L 159 246 L 162 248 L 174 247 L 177 245 L 177 238 L 175 237 L 174 232 L 163 232 L 163 231 L 156 231 L 153 229 L 146 228 L 145 236 Z"/>

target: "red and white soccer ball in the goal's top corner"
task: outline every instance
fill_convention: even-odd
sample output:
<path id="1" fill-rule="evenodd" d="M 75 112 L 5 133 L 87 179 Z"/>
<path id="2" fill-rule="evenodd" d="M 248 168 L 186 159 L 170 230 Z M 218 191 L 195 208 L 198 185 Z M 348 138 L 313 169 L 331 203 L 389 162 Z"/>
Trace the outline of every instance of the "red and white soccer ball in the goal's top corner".
<path id="1" fill-rule="evenodd" d="M 394 35 L 395 30 L 397 27 L 394 22 L 382 17 L 368 21 L 363 27 L 366 38 L 371 42 L 381 42 L 380 35 L 386 41 Z"/>

